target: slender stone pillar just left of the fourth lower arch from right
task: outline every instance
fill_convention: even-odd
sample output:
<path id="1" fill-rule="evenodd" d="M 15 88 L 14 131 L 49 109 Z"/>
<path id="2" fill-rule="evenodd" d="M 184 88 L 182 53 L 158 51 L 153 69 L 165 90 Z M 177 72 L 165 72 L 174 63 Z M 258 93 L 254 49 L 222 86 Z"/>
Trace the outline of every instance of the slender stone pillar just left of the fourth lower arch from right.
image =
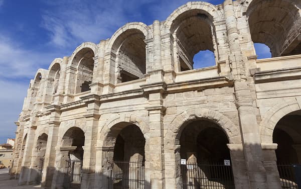
<path id="1" fill-rule="evenodd" d="M 48 127 L 48 139 L 47 147 L 44 158 L 43 174 L 42 174 L 42 186 L 45 188 L 50 188 L 52 184 L 52 178 L 55 172 L 55 158 L 58 135 L 59 135 L 59 126 L 60 126 L 60 107 L 56 105 L 51 105 L 46 107 L 51 116 L 49 119 Z"/>

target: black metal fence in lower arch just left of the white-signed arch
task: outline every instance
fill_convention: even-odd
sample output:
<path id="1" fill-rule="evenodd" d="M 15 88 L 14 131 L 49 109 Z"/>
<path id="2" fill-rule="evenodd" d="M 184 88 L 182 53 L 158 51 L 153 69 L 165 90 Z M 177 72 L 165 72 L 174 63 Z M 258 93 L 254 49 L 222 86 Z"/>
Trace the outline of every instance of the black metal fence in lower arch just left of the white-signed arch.
<path id="1" fill-rule="evenodd" d="M 144 189 L 144 162 L 108 161 L 109 189 Z"/>

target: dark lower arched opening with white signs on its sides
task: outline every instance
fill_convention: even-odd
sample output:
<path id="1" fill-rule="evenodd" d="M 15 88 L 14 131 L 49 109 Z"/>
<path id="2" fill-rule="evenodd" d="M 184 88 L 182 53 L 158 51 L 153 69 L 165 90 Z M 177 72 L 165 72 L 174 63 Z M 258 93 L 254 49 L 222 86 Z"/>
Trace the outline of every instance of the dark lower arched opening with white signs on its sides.
<path id="1" fill-rule="evenodd" d="M 234 188 L 229 140 L 209 120 L 189 123 L 180 137 L 182 188 Z M 229 163 L 229 164 L 228 164 Z"/>

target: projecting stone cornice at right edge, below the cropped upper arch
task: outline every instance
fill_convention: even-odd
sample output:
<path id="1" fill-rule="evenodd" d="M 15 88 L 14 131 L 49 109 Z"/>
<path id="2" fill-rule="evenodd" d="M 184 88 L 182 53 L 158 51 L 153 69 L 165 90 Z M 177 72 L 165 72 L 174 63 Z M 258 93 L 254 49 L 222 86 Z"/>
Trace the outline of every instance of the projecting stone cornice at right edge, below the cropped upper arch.
<path id="1" fill-rule="evenodd" d="M 254 74 L 255 83 L 292 80 L 301 78 L 301 67 L 259 71 Z"/>

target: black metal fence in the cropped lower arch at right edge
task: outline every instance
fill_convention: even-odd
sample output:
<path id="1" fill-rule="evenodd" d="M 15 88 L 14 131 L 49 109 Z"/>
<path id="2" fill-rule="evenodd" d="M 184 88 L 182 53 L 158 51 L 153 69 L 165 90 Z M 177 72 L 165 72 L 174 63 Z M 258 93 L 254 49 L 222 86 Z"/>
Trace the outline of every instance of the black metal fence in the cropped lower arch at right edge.
<path id="1" fill-rule="evenodd" d="M 277 165 L 281 188 L 301 189 L 301 165 L 289 163 Z"/>

